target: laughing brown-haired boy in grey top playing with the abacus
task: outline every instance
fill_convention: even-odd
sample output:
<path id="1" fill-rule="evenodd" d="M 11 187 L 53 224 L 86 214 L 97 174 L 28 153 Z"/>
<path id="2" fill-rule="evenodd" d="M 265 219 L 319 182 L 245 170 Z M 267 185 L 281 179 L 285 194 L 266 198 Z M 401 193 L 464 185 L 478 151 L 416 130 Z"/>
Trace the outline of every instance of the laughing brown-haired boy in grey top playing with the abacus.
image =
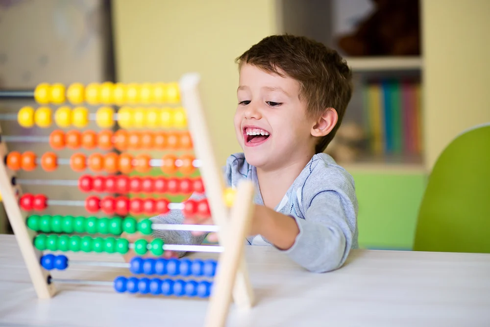
<path id="1" fill-rule="evenodd" d="M 237 62 L 234 125 L 243 153 L 228 158 L 226 180 L 229 186 L 242 178 L 256 185 L 246 242 L 275 246 L 312 272 L 337 269 L 358 247 L 358 204 L 352 176 L 322 152 L 350 101 L 351 71 L 336 51 L 291 35 L 266 37 Z M 151 220 L 182 224 L 183 217 L 172 212 Z M 200 244 L 206 234 L 153 236 Z"/>

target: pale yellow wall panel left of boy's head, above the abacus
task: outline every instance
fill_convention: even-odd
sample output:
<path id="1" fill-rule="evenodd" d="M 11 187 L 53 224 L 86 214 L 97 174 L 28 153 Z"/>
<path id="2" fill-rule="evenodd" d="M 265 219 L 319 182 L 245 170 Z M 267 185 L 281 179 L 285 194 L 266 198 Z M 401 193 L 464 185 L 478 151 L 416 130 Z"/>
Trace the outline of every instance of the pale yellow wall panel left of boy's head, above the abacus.
<path id="1" fill-rule="evenodd" d="M 174 81 L 201 74 L 217 159 L 240 147 L 233 113 L 238 70 L 234 63 L 263 37 L 275 33 L 273 0 L 116 0 L 116 65 L 122 82 Z"/>

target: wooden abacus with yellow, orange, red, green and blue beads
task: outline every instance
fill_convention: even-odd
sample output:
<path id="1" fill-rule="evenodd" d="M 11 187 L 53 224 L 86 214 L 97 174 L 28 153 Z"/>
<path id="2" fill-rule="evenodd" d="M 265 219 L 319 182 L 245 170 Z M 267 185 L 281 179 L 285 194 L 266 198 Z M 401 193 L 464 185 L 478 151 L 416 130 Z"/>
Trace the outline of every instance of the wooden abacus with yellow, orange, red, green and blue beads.
<path id="1" fill-rule="evenodd" d="M 0 192 L 39 298 L 54 296 L 57 292 L 55 285 L 58 283 L 107 285 L 119 293 L 209 298 L 205 320 L 205 326 L 209 327 L 224 325 L 232 298 L 240 307 L 248 308 L 253 305 L 253 291 L 243 252 L 253 210 L 254 187 L 247 181 L 239 184 L 236 190 L 224 187 L 199 98 L 199 80 L 199 75 L 192 73 L 183 75 L 178 83 L 139 85 L 104 82 L 86 86 L 73 83 L 68 88 L 60 83 L 42 83 L 35 90 L 0 91 L 0 98 L 33 99 L 41 105 L 37 109 L 31 106 L 23 107 L 17 115 L 2 114 L 1 120 L 17 120 L 25 128 L 48 127 L 54 120 L 61 128 L 77 128 L 69 131 L 57 129 L 49 137 L 1 135 L 0 153 L 4 160 L 0 160 Z M 160 104 L 179 102 L 182 107 L 157 107 Z M 76 107 L 71 108 L 67 103 Z M 83 103 L 102 106 L 93 114 Z M 54 115 L 48 104 L 59 105 Z M 104 129 L 98 133 L 78 130 L 87 126 L 91 120 Z M 115 126 L 116 122 L 120 129 L 115 132 L 108 129 Z M 48 142 L 53 151 L 44 153 L 41 158 L 38 158 L 34 151 L 8 152 L 5 142 L 18 141 Z M 64 148 L 118 151 L 193 149 L 196 157 L 190 154 L 165 154 L 161 158 L 152 158 L 147 153 L 133 156 L 124 152 L 95 152 L 88 156 L 74 153 L 70 158 L 58 157 L 55 151 Z M 15 176 L 18 170 L 33 171 L 38 166 L 46 172 L 53 172 L 59 165 L 70 165 L 76 172 L 88 169 L 95 173 L 105 171 L 109 175 L 84 174 L 78 180 L 20 179 Z M 129 174 L 132 171 L 146 173 L 153 167 L 161 167 L 162 171 L 169 175 L 180 172 L 186 177 L 117 175 Z M 196 170 L 199 170 L 200 177 L 187 177 Z M 119 195 L 103 198 L 90 195 L 85 201 L 48 199 L 42 194 L 23 194 L 21 185 L 29 183 L 78 186 L 86 193 L 106 192 Z M 189 199 L 172 203 L 165 198 L 129 198 L 126 195 L 130 192 L 194 192 L 205 194 L 206 197 L 202 200 Z M 38 214 L 24 217 L 24 212 L 41 211 L 51 205 L 84 206 L 89 213 L 103 212 L 106 215 L 122 217 Z M 212 217 L 216 224 L 154 224 L 149 219 L 138 222 L 128 216 L 151 216 L 165 214 L 171 210 L 182 210 L 185 217 Z M 165 244 L 161 238 L 154 238 L 150 242 L 141 238 L 130 244 L 127 239 L 121 237 L 123 232 L 150 235 L 153 231 L 162 229 L 216 232 L 219 244 Z M 130 250 L 137 255 L 129 263 L 71 262 L 64 254 L 46 253 L 81 251 L 125 254 Z M 198 258 L 191 260 L 186 257 L 164 258 L 164 251 L 220 254 L 218 261 Z M 153 257 L 143 257 L 148 252 L 151 252 Z M 127 267 L 130 273 L 147 275 L 149 278 L 119 276 L 112 281 L 84 281 L 52 278 L 49 274 L 53 269 L 65 270 L 72 264 Z M 152 278 L 151 275 L 167 277 Z M 212 278 L 212 281 L 172 278 L 176 276 L 208 277 Z"/>

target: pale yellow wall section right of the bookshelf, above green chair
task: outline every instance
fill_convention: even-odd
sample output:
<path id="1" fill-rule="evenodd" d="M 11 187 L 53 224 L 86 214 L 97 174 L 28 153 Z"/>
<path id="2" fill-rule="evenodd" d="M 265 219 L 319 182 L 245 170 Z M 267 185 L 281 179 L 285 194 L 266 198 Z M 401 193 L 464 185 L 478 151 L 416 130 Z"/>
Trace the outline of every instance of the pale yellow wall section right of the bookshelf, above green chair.
<path id="1" fill-rule="evenodd" d="M 490 122 L 490 1 L 423 0 L 426 163 L 464 129 Z"/>

